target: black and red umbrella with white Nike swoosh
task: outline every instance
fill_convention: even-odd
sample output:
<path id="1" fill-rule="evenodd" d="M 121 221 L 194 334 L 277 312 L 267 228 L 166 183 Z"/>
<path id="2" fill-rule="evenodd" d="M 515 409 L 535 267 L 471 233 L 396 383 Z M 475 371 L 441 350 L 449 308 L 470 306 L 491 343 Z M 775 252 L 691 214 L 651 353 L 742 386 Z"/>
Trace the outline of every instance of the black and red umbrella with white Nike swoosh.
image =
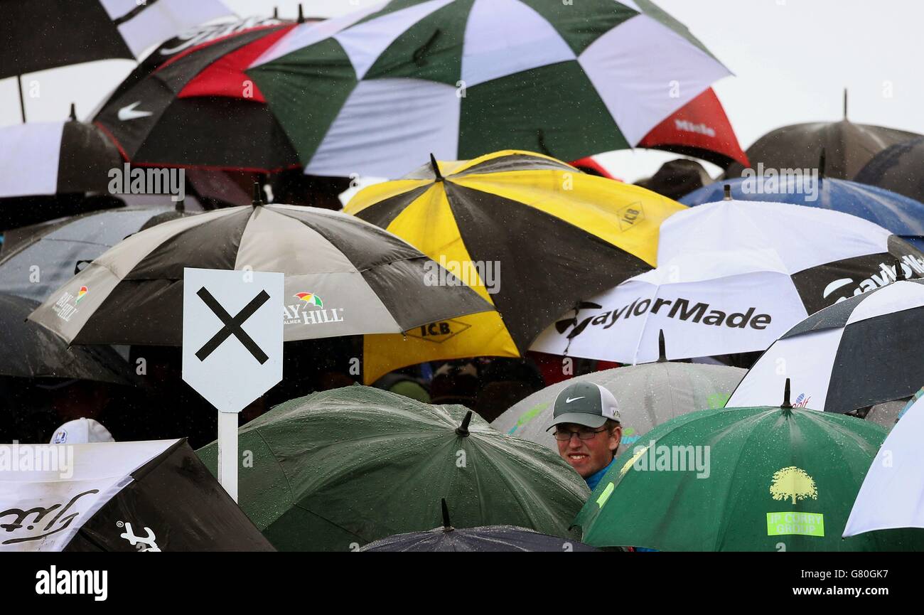
<path id="1" fill-rule="evenodd" d="M 298 168 L 298 154 L 243 72 L 294 27 L 251 18 L 167 41 L 93 120 L 136 166 Z"/>

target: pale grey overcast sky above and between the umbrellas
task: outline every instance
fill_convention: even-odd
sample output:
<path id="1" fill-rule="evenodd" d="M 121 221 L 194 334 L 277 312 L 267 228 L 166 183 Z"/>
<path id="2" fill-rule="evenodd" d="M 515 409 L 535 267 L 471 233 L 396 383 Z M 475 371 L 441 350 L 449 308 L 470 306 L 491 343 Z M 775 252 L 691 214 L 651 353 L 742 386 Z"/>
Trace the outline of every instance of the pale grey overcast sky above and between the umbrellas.
<path id="1" fill-rule="evenodd" d="M 555 2 L 557 0 L 548 0 Z M 575 0 L 579 2 L 580 0 Z M 924 80 L 919 56 L 924 3 L 918 0 L 654 0 L 687 25 L 734 73 L 714 84 L 741 144 L 768 130 L 842 117 L 849 90 L 852 121 L 924 133 Z M 294 17 L 294 0 L 226 0 L 238 15 Z M 308 0 L 308 15 L 331 17 L 373 0 Z M 85 117 L 131 68 L 127 60 L 34 73 L 30 121 L 67 117 L 71 101 Z M 0 80 L 0 125 L 19 122 L 16 80 Z M 622 178 L 648 175 L 674 154 L 602 157 Z M 710 167 L 714 172 L 716 167 Z"/>

